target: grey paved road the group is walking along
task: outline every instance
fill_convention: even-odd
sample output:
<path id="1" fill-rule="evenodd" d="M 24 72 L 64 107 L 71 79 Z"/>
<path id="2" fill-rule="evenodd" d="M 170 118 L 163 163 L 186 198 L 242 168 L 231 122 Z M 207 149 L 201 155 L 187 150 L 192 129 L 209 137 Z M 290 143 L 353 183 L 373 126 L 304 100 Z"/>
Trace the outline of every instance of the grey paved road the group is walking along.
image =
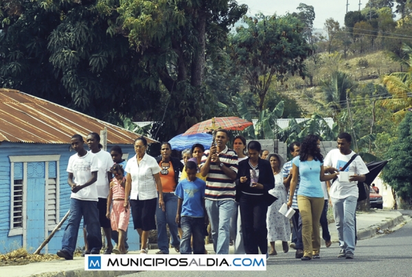
<path id="1" fill-rule="evenodd" d="M 266 272 L 139 272 L 128 277 L 246 276 L 412 276 L 412 221 L 391 234 L 358 241 L 355 258 L 337 258 L 339 247 L 321 249 L 321 259 L 300 261 L 294 252 L 278 254 Z M 279 253 L 279 252 L 278 252 Z"/>

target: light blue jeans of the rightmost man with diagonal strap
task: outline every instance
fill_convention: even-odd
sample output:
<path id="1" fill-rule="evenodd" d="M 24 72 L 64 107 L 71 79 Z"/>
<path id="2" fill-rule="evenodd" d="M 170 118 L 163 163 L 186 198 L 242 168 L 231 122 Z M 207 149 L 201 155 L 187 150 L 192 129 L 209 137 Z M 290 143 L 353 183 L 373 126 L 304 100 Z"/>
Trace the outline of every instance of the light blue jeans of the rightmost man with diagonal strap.
<path id="1" fill-rule="evenodd" d="M 355 212 L 358 198 L 349 196 L 344 199 L 332 198 L 333 214 L 338 229 L 339 246 L 346 252 L 355 251 Z"/>

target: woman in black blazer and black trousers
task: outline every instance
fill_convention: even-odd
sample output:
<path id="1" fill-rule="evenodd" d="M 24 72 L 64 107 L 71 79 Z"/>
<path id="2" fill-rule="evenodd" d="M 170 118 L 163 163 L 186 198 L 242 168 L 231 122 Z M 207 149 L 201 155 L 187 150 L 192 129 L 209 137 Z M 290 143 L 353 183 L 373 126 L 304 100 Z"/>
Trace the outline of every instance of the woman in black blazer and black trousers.
<path id="1" fill-rule="evenodd" d="M 262 150 L 260 143 L 251 141 L 247 149 L 249 158 L 239 162 L 236 182 L 240 191 L 236 198 L 240 203 L 244 250 L 246 254 L 259 254 L 259 248 L 267 256 L 268 191 L 275 187 L 275 178 L 270 162 L 259 157 Z"/>

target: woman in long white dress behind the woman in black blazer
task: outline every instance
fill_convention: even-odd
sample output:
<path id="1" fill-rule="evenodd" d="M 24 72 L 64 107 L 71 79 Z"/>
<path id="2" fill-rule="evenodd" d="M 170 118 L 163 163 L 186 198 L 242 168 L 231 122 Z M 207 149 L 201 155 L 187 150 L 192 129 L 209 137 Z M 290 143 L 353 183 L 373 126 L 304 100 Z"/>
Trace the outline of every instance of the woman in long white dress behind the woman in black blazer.
<path id="1" fill-rule="evenodd" d="M 266 160 L 271 162 L 273 176 L 275 176 L 275 189 L 271 189 L 269 193 L 277 197 L 277 200 L 268 207 L 266 217 L 266 226 L 268 226 L 268 241 L 271 243 L 270 256 L 277 255 L 275 249 L 275 241 L 282 241 L 282 248 L 285 253 L 289 251 L 288 240 L 290 238 L 290 223 L 289 219 L 279 213 L 279 208 L 286 203 L 287 192 L 283 184 L 282 168 L 284 159 L 279 154 L 268 154 Z"/>

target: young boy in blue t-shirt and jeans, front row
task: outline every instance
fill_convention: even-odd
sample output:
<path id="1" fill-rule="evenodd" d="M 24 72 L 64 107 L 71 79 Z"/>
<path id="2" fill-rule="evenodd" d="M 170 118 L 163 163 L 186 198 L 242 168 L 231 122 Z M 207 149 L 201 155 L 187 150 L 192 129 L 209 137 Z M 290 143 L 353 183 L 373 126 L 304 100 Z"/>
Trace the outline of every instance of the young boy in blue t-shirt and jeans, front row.
<path id="1" fill-rule="evenodd" d="M 205 208 L 206 182 L 197 178 L 198 166 L 195 162 L 186 162 L 187 178 L 181 180 L 174 192 L 177 200 L 176 223 L 181 224 L 181 254 L 192 254 L 190 239 L 193 236 L 193 254 L 205 254 L 204 229 L 209 222 Z"/>

